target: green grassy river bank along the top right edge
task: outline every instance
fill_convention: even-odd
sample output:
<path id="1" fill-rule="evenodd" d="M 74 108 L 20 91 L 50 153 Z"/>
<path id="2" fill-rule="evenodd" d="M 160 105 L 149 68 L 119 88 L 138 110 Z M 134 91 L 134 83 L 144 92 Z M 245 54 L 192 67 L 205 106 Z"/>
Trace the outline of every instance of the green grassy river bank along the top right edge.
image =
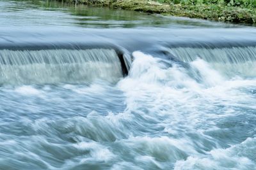
<path id="1" fill-rule="evenodd" d="M 255 0 L 77 0 L 77 2 L 178 17 L 256 25 Z"/>

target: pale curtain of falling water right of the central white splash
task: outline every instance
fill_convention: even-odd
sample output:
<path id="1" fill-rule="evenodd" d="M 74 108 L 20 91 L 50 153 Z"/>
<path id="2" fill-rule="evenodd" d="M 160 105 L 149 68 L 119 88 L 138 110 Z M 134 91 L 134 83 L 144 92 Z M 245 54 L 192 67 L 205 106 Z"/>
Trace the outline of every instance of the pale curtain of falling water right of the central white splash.
<path id="1" fill-rule="evenodd" d="M 191 62 L 197 58 L 206 62 L 226 76 L 256 76 L 256 47 L 230 47 L 230 48 L 170 48 L 170 53 L 182 60 Z"/>

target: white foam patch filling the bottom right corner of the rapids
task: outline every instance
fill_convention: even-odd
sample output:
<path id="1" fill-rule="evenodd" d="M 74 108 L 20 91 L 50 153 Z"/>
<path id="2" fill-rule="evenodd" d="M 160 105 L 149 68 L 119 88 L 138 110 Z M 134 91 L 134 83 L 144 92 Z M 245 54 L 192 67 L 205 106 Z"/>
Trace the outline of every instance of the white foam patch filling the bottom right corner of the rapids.
<path id="1" fill-rule="evenodd" d="M 179 160 L 175 164 L 175 170 L 179 169 L 255 169 L 255 143 L 252 138 L 246 139 L 239 145 L 227 149 L 216 149 L 208 155 L 190 156 L 186 160 Z M 246 153 L 252 152 L 252 153 Z M 248 158 L 252 155 L 252 159 Z M 250 157 L 250 156 L 249 156 Z"/>

